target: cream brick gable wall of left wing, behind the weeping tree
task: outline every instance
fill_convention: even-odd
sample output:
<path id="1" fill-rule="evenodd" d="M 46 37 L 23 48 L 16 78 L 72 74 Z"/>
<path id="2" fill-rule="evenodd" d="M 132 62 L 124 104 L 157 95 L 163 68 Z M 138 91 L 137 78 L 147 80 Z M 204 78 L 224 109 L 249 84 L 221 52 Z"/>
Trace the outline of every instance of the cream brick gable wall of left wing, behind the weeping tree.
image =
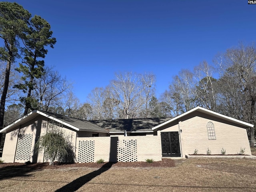
<path id="1" fill-rule="evenodd" d="M 34 156 L 34 146 L 39 136 L 45 134 L 48 122 L 45 118 L 39 116 L 14 130 L 6 133 L 2 160 L 4 162 L 45 162 L 44 154 L 40 153 Z M 69 136 L 70 142 L 75 146 L 76 132 L 63 128 Z M 17 149 L 17 150 L 16 150 Z"/>

